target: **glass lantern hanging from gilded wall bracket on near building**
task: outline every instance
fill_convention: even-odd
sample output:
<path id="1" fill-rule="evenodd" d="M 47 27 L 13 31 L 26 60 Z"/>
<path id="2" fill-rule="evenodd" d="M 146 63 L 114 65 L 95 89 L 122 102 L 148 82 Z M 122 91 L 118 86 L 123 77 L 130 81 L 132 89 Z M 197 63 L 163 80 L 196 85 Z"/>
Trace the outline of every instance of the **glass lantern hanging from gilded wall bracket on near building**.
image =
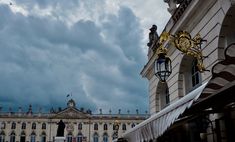
<path id="1" fill-rule="evenodd" d="M 154 48 L 157 49 L 156 54 L 158 55 L 154 64 L 154 74 L 161 82 L 166 82 L 172 72 L 171 59 L 166 56 L 167 48 L 164 47 L 166 41 L 172 43 L 174 47 L 184 54 L 195 58 L 200 72 L 208 71 L 203 65 L 205 56 L 202 55 L 201 51 L 201 44 L 206 40 L 203 40 L 199 34 L 191 38 L 191 35 L 186 31 L 179 31 L 175 35 L 163 32 L 157 43 L 154 44 L 156 46 Z"/>

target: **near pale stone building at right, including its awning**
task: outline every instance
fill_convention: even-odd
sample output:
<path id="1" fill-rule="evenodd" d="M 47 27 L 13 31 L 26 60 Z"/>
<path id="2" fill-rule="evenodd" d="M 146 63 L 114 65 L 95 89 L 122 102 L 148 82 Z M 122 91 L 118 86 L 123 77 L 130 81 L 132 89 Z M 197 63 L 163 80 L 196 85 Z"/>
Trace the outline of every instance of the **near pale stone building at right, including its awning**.
<path id="1" fill-rule="evenodd" d="M 131 142 L 234 142 L 235 1 L 164 1 L 172 16 L 163 33 L 177 38 L 177 33 L 186 31 L 190 36 L 162 44 L 172 67 L 164 83 L 155 75 L 162 39 L 149 46 L 141 75 L 149 81 L 151 117 L 122 137 Z M 204 72 L 199 71 L 197 57 L 176 48 L 176 44 L 191 47 L 197 34 L 205 40 L 198 48 Z"/>

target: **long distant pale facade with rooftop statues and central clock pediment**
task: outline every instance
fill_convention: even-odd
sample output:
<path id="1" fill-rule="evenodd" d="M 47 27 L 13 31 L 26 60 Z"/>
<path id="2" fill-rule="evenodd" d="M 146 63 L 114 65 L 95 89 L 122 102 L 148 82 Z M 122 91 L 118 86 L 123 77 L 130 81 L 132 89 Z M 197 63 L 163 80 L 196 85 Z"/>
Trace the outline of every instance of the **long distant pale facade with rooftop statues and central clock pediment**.
<path id="1" fill-rule="evenodd" d="M 58 122 L 65 124 L 67 142 L 110 142 L 117 135 L 135 127 L 148 117 L 147 114 L 91 114 L 77 109 L 71 99 L 67 108 L 51 113 L 28 112 L 0 113 L 0 142 L 50 142 L 54 141 Z M 118 124 L 116 133 L 114 128 Z"/>

